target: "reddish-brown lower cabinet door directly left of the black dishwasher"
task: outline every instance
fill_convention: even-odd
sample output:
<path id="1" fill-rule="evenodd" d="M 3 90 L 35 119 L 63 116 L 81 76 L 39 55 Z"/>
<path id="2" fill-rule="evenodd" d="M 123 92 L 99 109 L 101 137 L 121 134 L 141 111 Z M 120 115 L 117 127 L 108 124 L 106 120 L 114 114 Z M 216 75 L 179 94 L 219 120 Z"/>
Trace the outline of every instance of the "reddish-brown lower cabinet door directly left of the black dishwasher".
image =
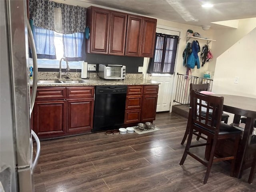
<path id="1" fill-rule="evenodd" d="M 67 100 L 67 132 L 73 134 L 91 132 L 94 99 Z"/>

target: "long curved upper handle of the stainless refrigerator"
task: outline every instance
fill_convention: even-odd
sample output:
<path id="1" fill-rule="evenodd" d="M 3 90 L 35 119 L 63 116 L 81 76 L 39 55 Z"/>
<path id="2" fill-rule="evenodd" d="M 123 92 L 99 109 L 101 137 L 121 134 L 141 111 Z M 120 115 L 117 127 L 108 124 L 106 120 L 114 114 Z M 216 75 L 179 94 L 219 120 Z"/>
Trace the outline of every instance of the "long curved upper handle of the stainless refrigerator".
<path id="1" fill-rule="evenodd" d="M 29 21 L 26 20 L 28 26 L 28 40 L 30 42 L 30 48 L 33 59 L 33 84 L 32 84 L 32 95 L 30 100 L 30 115 L 32 114 L 32 110 L 36 100 L 36 89 L 37 89 L 37 76 L 38 76 L 38 66 L 37 66 L 37 55 L 36 55 L 36 46 L 33 38 L 33 33 L 29 24 Z"/>

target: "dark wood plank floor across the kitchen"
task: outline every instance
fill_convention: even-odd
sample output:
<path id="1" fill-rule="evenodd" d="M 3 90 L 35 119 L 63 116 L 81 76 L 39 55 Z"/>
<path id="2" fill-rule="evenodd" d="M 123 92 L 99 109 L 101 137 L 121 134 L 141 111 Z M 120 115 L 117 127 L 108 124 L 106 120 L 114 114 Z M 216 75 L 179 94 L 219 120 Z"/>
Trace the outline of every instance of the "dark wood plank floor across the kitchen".
<path id="1" fill-rule="evenodd" d="M 179 165 L 187 120 L 162 113 L 159 131 L 106 136 L 104 132 L 41 142 L 34 174 L 36 192 L 255 192 L 229 176 L 230 165 L 215 163 L 206 185 L 206 167 L 190 156 Z M 201 140 L 193 142 L 201 142 Z M 194 149 L 204 155 L 204 148 Z"/>

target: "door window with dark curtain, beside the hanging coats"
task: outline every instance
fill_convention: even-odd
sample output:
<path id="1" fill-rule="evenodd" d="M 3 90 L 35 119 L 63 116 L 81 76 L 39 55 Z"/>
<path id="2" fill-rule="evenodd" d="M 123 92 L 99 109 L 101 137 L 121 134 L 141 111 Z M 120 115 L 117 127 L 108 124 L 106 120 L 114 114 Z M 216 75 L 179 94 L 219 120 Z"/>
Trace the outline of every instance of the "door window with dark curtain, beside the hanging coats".
<path id="1" fill-rule="evenodd" d="M 156 33 L 154 57 L 150 59 L 148 73 L 174 73 L 178 39 L 178 36 Z"/>

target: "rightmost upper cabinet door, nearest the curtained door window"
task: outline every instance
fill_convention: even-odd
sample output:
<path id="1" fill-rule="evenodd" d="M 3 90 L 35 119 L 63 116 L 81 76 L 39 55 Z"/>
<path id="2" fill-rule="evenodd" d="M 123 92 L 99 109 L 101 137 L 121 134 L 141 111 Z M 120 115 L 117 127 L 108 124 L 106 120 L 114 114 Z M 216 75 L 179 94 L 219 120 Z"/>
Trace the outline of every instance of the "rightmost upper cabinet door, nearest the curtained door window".
<path id="1" fill-rule="evenodd" d="M 156 19 L 143 18 L 142 39 L 140 46 L 141 57 L 153 57 L 156 38 Z"/>

